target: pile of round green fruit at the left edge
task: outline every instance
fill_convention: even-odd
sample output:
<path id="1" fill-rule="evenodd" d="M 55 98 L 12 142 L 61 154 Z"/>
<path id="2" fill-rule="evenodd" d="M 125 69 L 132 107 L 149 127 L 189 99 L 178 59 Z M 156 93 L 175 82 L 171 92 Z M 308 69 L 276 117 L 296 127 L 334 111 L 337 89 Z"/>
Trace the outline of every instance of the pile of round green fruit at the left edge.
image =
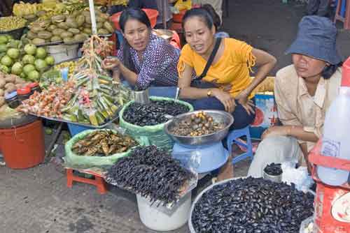
<path id="1" fill-rule="evenodd" d="M 44 47 L 27 44 L 22 46 L 20 40 L 0 35 L 0 70 L 3 73 L 19 75 L 25 80 L 38 82 L 41 73 L 55 63 L 48 56 Z"/>

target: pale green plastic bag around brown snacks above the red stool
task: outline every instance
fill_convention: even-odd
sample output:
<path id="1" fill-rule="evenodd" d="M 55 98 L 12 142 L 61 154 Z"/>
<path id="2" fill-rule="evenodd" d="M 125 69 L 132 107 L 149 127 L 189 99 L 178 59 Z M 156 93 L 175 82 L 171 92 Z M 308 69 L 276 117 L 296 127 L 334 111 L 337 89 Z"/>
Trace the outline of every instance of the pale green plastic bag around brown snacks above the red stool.
<path id="1" fill-rule="evenodd" d="M 78 133 L 74 137 L 69 140 L 65 145 L 65 151 L 66 156 L 64 157 L 64 165 L 66 167 L 70 167 L 73 169 L 91 169 L 94 168 L 97 169 L 106 169 L 116 163 L 116 161 L 120 158 L 123 158 L 125 156 L 129 156 L 132 149 L 129 149 L 123 153 L 115 153 L 111 156 L 78 156 L 71 150 L 71 147 L 73 144 L 78 142 L 79 140 L 82 140 L 90 133 L 94 132 L 96 130 L 84 130 L 81 133 Z M 112 130 L 114 133 L 117 133 L 118 131 Z M 122 134 L 122 132 L 118 132 L 119 134 Z M 144 146 L 146 142 L 139 137 L 132 137 L 134 140 L 136 140 L 139 143 L 139 146 Z"/>

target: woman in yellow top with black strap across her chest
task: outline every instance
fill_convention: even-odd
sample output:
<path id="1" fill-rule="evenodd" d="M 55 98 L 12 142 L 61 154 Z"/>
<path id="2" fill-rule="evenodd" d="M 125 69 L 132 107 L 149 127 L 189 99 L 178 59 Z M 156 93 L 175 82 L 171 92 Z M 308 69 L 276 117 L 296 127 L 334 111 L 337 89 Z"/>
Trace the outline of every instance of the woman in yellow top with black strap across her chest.
<path id="1" fill-rule="evenodd" d="M 202 8 L 188 10 L 183 17 L 187 45 L 179 59 L 180 97 L 190 99 L 195 110 L 225 110 L 235 118 L 233 128 L 244 128 L 253 122 L 253 89 L 265 79 L 276 59 L 233 38 L 223 38 L 218 52 L 200 87 L 191 87 L 193 72 L 200 76 L 216 43 L 211 15 Z M 253 81 L 250 71 L 259 66 Z M 208 87 L 210 83 L 211 88 Z M 202 86 L 202 87 L 201 87 Z"/>

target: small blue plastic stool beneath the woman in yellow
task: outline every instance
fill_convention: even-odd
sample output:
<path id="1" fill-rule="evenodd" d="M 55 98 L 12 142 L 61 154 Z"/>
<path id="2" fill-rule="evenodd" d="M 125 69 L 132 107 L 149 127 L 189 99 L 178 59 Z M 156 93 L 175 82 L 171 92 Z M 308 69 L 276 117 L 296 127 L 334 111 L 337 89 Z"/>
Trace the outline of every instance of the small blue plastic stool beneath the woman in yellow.
<path id="1" fill-rule="evenodd" d="M 241 140 L 239 140 L 239 137 L 242 136 L 246 136 L 246 143 L 241 142 Z M 239 161 L 244 160 L 245 158 L 253 159 L 253 146 L 251 144 L 251 133 L 249 133 L 249 126 L 246 126 L 246 128 L 241 128 L 239 130 L 230 131 L 230 133 L 228 133 L 228 139 L 226 142 L 228 144 L 228 150 L 230 155 L 232 155 L 233 144 L 237 144 L 246 148 L 245 153 L 242 153 L 239 156 L 232 158 L 232 164 L 238 163 Z"/>

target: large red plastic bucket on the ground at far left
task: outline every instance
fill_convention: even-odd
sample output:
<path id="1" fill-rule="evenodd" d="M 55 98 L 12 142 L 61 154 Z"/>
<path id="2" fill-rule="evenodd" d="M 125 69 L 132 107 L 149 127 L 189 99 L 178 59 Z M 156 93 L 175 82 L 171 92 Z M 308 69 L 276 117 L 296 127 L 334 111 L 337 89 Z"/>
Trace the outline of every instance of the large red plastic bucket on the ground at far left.
<path id="1" fill-rule="evenodd" d="M 24 169 L 42 163 L 45 144 L 41 121 L 0 129 L 0 147 L 7 167 Z"/>

